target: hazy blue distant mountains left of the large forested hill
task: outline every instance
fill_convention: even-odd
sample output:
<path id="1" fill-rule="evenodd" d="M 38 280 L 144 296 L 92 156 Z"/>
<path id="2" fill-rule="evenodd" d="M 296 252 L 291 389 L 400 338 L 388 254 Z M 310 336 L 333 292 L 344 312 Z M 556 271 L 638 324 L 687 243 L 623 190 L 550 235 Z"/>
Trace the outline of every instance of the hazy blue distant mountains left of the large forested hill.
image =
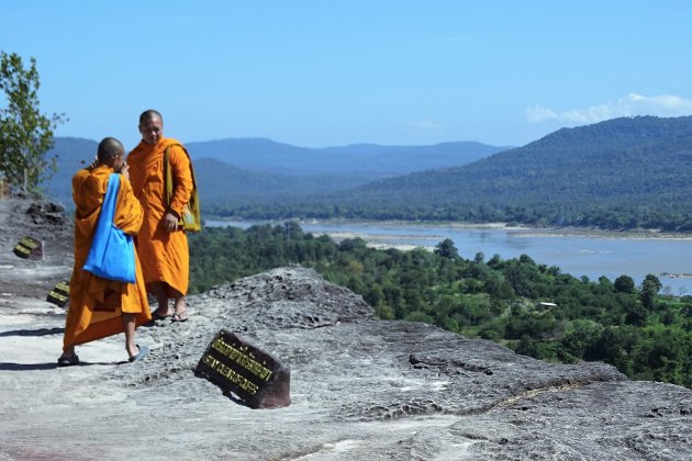
<path id="1" fill-rule="evenodd" d="M 55 138 L 48 155 L 57 155 L 58 172 L 45 184 L 49 198 L 71 207 L 71 177 L 91 162 L 97 147 L 90 139 Z M 186 147 L 193 159 L 200 199 L 209 211 L 344 191 L 398 173 L 464 165 L 502 149 L 472 142 L 311 149 L 269 139 L 212 140 Z"/>

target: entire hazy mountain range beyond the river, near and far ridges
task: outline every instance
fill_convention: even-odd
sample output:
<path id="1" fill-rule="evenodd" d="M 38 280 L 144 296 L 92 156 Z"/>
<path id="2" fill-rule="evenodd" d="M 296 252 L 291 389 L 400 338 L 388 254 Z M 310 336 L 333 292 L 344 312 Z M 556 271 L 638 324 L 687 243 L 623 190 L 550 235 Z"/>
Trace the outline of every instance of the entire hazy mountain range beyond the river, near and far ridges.
<path id="1" fill-rule="evenodd" d="M 187 146 L 207 214 L 692 231 L 692 116 L 614 119 L 518 148 Z M 57 138 L 54 151 L 60 171 L 48 190 L 69 205 L 77 159 L 92 158 L 96 142 Z"/>

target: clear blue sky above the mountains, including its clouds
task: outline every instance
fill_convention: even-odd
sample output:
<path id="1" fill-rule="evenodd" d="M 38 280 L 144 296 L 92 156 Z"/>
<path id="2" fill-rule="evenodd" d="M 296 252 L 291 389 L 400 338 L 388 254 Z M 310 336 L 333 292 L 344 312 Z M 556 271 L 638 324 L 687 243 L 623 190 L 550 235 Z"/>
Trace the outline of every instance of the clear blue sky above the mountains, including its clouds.
<path id="1" fill-rule="evenodd" d="M 692 2 L 0 0 L 56 136 L 522 146 L 620 116 L 692 114 Z M 0 109 L 7 101 L 0 94 Z"/>

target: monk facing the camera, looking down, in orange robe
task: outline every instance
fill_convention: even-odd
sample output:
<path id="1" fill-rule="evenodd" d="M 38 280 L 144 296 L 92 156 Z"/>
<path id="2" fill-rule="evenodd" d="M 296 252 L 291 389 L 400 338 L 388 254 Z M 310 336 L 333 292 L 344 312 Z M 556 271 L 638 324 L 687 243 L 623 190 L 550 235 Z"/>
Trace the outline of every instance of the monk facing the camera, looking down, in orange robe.
<path id="1" fill-rule="evenodd" d="M 190 158 L 182 144 L 164 137 L 161 114 L 148 110 L 139 116 L 142 142 L 127 156 L 135 196 L 144 207 L 144 223 L 136 247 L 144 281 L 158 304 L 153 317 L 188 319 L 186 294 L 190 274 L 188 237 L 178 225 L 185 205 L 192 194 Z M 169 164 L 175 189 L 170 203 L 164 200 L 164 153 L 169 148 Z M 169 300 L 174 300 L 171 312 Z"/>

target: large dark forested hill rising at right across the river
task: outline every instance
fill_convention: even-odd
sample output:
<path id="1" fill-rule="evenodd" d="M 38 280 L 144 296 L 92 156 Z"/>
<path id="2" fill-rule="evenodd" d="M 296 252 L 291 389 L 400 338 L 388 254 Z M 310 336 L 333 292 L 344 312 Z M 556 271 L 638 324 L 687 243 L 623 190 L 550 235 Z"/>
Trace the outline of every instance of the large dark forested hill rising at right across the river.
<path id="1" fill-rule="evenodd" d="M 470 165 L 324 200 L 346 217 L 692 231 L 690 196 L 692 116 L 641 116 L 563 128 Z"/>

